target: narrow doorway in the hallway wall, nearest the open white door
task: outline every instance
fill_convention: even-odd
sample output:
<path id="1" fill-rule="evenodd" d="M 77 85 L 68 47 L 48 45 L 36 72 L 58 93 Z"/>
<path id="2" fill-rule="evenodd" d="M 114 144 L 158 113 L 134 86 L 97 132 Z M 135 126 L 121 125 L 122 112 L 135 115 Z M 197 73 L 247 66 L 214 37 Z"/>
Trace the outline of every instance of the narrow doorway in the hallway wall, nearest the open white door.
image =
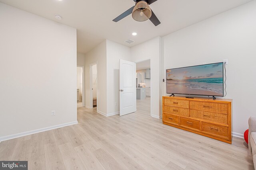
<path id="1" fill-rule="evenodd" d="M 90 108 L 96 108 L 97 102 L 97 90 L 98 90 L 98 73 L 97 62 L 90 64 Z"/>

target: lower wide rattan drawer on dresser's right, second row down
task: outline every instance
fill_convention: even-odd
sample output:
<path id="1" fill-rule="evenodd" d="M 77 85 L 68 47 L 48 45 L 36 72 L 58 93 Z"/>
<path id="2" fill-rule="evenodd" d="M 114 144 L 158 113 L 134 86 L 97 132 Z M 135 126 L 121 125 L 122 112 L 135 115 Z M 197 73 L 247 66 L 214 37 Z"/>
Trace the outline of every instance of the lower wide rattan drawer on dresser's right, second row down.
<path id="1" fill-rule="evenodd" d="M 228 115 L 190 109 L 190 117 L 228 124 Z"/>

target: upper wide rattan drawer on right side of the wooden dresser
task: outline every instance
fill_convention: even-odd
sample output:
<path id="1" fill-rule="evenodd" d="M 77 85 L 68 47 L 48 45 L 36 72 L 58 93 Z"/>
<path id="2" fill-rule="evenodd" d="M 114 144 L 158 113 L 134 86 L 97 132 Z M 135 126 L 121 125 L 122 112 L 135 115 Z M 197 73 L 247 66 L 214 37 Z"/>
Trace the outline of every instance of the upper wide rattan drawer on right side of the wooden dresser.
<path id="1" fill-rule="evenodd" d="M 204 111 L 212 111 L 218 113 L 228 113 L 227 104 L 210 103 L 210 102 L 195 102 L 190 101 L 190 109 L 198 109 Z"/>

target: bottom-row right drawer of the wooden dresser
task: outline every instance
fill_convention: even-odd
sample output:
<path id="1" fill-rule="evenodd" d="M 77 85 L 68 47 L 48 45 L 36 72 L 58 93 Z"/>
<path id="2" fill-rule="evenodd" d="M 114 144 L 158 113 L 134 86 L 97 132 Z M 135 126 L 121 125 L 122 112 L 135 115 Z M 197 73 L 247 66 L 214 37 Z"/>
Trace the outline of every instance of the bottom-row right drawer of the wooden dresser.
<path id="1" fill-rule="evenodd" d="M 211 133 L 212 135 L 218 135 L 222 137 L 228 137 L 228 127 L 214 125 L 206 122 L 202 122 L 202 131 Z"/>

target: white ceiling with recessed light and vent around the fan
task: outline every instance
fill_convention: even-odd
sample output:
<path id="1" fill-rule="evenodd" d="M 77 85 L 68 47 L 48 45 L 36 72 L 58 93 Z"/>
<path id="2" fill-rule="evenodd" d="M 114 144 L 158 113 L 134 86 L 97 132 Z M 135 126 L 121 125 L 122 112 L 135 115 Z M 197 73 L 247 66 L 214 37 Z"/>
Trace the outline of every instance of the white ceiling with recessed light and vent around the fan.
<path id="1" fill-rule="evenodd" d="M 86 53 L 104 39 L 132 47 L 157 36 L 164 36 L 240 6 L 252 0 L 158 0 L 150 5 L 161 24 L 137 22 L 128 16 L 112 20 L 134 6 L 133 0 L 0 0 L 77 29 L 78 52 Z M 62 16 L 56 20 L 55 14 Z M 137 36 L 132 33 L 137 32 Z M 135 43 L 124 41 L 132 39 Z"/>

